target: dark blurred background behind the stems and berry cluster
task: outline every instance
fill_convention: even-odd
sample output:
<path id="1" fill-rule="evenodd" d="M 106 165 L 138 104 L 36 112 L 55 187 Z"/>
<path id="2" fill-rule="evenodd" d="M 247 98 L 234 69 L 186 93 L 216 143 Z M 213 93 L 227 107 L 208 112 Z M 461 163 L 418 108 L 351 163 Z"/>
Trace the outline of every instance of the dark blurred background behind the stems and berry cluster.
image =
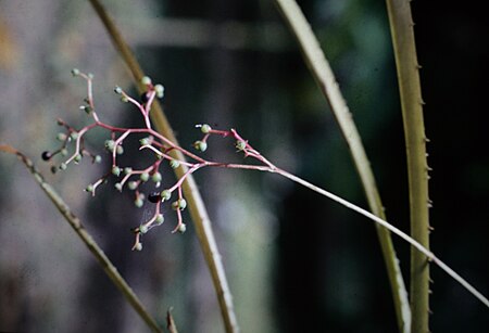
<path id="1" fill-rule="evenodd" d="M 145 71 L 166 87 L 163 102 L 180 144 L 195 124 L 239 132 L 278 166 L 366 206 L 329 107 L 271 1 L 103 1 Z M 309 0 L 300 5 L 331 62 L 377 177 L 388 219 L 409 230 L 405 153 L 385 2 Z M 486 242 L 489 142 L 485 95 L 486 11 L 412 2 L 425 105 L 432 251 L 488 295 Z M 89 124 L 86 94 L 70 69 L 96 76 L 106 123 L 141 119 L 112 90 L 129 75 L 88 2 L 0 1 L 0 142 L 40 166 L 150 311 L 173 315 L 181 332 L 223 332 L 195 230 L 163 227 L 130 252 L 145 212 L 113 183 L 95 198 L 83 189 L 104 172 L 82 163 L 50 175 L 57 117 Z M 134 91 L 134 90 L 133 90 Z M 102 152 L 108 133 L 88 137 Z M 145 166 L 128 143 L 124 165 Z M 235 159 L 213 139 L 206 156 Z M 108 163 L 109 158 L 105 158 Z M 238 159 L 239 161 L 239 159 Z M 58 161 L 60 163 L 60 161 Z M 12 156 L 0 157 L 0 331 L 146 332 L 141 320 Z M 196 174 L 208 204 L 243 332 L 394 332 L 396 318 L 373 223 L 287 180 L 251 171 Z M 175 181 L 165 170 L 164 181 Z M 149 191 L 149 189 L 148 189 Z M 151 210 L 150 210 L 151 212 Z M 188 217 L 186 216 L 188 219 Z M 409 284 L 409 246 L 394 239 Z M 437 267 L 430 328 L 482 332 L 487 308 Z"/>

